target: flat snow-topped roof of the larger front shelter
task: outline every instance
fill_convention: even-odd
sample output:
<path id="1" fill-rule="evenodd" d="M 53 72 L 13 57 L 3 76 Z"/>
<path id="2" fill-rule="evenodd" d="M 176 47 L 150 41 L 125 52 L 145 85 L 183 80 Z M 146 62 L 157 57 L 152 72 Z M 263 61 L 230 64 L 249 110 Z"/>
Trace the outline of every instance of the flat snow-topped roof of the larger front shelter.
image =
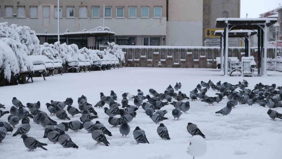
<path id="1" fill-rule="evenodd" d="M 259 29 L 267 26 L 273 25 L 277 22 L 277 18 L 217 18 L 216 27 L 224 28 L 228 23 L 229 28 L 232 29 Z"/>

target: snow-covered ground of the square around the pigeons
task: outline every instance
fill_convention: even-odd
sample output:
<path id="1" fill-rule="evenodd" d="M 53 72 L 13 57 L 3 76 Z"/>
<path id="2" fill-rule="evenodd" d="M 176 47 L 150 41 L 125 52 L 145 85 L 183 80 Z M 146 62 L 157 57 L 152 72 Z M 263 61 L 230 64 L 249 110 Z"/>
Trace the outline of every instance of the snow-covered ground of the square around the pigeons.
<path id="1" fill-rule="evenodd" d="M 247 80 L 249 88 L 262 82 L 271 85 L 276 83 L 281 86 L 282 73 L 268 71 L 268 77 L 222 77 L 222 72 L 215 69 L 186 69 L 186 68 L 138 68 L 127 67 L 115 70 L 96 71 L 87 73 L 67 73 L 55 75 L 54 77 L 46 77 L 43 81 L 42 77 L 34 78 L 34 83 L 0 87 L 0 103 L 6 105 L 5 110 L 9 110 L 12 106 L 12 98 L 17 97 L 25 103 L 41 102 L 41 109 L 48 112 L 45 103 L 50 100 L 64 101 L 65 98 L 74 99 L 74 104 L 78 108 L 77 98 L 82 94 L 88 99 L 88 103 L 96 104 L 100 99 L 100 92 L 109 95 L 114 90 L 118 95 L 118 102 L 121 102 L 121 94 L 130 92 L 137 94 L 137 89 L 141 89 L 145 94 L 149 94 L 149 88 L 154 88 L 159 93 L 164 92 L 166 87 L 171 84 L 173 87 L 176 82 L 181 82 L 180 91 L 189 94 L 200 81 L 208 81 L 211 79 L 214 83 L 219 80 L 237 84 L 238 81 Z M 215 91 L 209 90 L 208 96 L 216 96 Z M 44 130 L 41 125 L 36 125 L 31 120 L 31 129 L 28 133 L 41 142 L 47 143 L 45 146 L 48 151 L 36 149 L 29 152 L 24 146 L 20 136 L 12 137 L 11 133 L 0 143 L 0 158 L 115 158 L 115 159 L 132 159 L 132 158 L 152 158 L 152 159 L 176 159 L 176 158 L 192 158 L 186 153 L 189 137 L 186 126 L 188 122 L 196 124 L 200 130 L 206 135 L 207 153 L 200 158 L 280 158 L 282 156 L 282 120 L 271 120 L 266 113 L 268 108 L 259 105 L 247 106 L 238 105 L 232 109 L 227 116 L 215 114 L 216 111 L 226 106 L 227 99 L 223 99 L 219 104 L 208 106 L 204 102 L 190 101 L 191 108 L 187 114 L 182 114 L 178 121 L 172 120 L 172 105 L 165 106 L 169 120 L 162 123 L 168 128 L 171 140 L 161 140 L 156 130 L 159 125 L 144 113 L 140 107 L 137 110 L 137 117 L 129 123 L 131 132 L 127 138 L 123 138 L 119 133 L 118 127 L 111 127 L 108 124 L 108 116 L 103 109 L 96 108 L 99 115 L 99 121 L 103 123 L 113 136 L 107 137 L 110 146 L 103 144 L 95 146 L 95 141 L 91 138 L 91 134 L 86 133 L 82 129 L 79 132 L 69 130 L 73 142 L 79 146 L 78 149 L 63 148 L 60 144 L 51 143 L 47 138 L 44 139 Z M 133 105 L 133 102 L 130 102 Z M 105 104 L 108 107 L 107 104 Z M 66 108 L 65 108 L 66 109 Z M 2 109 L 3 110 L 3 109 Z M 278 112 L 282 113 L 282 109 L 278 108 Z M 0 121 L 7 121 L 8 114 L 3 116 Z M 55 116 L 52 119 L 58 120 Z M 79 120 L 80 115 L 71 118 L 71 120 Z M 93 122 L 96 120 L 94 119 Z M 66 121 L 67 122 L 67 121 Z M 16 125 L 16 129 L 19 125 Z M 139 126 L 146 132 L 147 139 L 150 144 L 135 145 L 133 138 L 133 130 Z M 14 132 L 16 131 L 14 129 Z M 13 133 L 14 133 L 13 132 Z"/>

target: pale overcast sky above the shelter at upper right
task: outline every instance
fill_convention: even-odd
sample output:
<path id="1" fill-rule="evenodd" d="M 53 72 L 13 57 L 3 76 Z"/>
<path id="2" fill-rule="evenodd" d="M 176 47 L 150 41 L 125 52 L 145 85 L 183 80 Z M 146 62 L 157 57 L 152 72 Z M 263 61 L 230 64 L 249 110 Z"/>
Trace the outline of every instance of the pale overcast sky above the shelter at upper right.
<path id="1" fill-rule="evenodd" d="M 259 14 L 273 10 L 282 4 L 282 0 L 241 0 L 241 17 L 259 18 Z"/>

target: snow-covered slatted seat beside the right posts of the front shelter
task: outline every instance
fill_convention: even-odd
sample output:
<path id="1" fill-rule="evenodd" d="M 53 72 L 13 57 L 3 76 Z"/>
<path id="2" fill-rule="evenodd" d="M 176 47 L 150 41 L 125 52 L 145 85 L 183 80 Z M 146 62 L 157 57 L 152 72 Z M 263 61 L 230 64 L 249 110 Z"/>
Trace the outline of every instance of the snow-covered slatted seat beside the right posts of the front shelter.
<path id="1" fill-rule="evenodd" d="M 256 68 L 256 62 L 254 57 L 242 57 L 242 75 L 243 76 L 253 76 L 254 69 Z"/>

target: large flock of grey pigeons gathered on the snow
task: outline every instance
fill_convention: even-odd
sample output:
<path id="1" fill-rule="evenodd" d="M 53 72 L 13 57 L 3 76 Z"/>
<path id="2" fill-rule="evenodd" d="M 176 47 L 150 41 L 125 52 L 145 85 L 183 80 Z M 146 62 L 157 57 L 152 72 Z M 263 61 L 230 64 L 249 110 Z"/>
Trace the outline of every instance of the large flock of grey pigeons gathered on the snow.
<path id="1" fill-rule="evenodd" d="M 165 106 L 168 107 L 169 104 L 174 106 L 175 109 L 172 110 L 171 114 L 174 119 L 177 118 L 178 120 L 181 114 L 186 113 L 190 109 L 190 102 L 187 101 L 188 99 L 193 101 L 199 98 L 202 102 L 213 105 L 213 103 L 219 103 L 222 101 L 222 98 L 226 97 L 229 99 L 227 106 L 215 112 L 217 114 L 222 114 L 223 116 L 230 114 L 232 107 L 234 108 L 238 103 L 248 105 L 258 103 L 260 106 L 268 106 L 269 108 L 282 107 L 282 87 L 276 87 L 276 84 L 269 86 L 263 85 L 262 83 L 256 84 L 253 90 L 247 89 L 246 87 L 248 87 L 248 82 L 245 80 L 236 85 L 227 82 L 221 83 L 221 81 L 216 84 L 211 80 L 208 82 L 201 81 L 201 84 L 198 84 L 196 88 L 190 92 L 190 96 L 187 97 L 187 95 L 181 91 L 175 93 L 175 91 L 178 91 L 181 88 L 181 83 L 179 82 L 176 83 L 174 88 L 169 85 L 164 93 L 158 93 L 154 89 L 149 89 L 151 96 L 144 96 L 144 93 L 140 89 L 138 89 L 136 96 L 130 93 L 123 93 L 121 104 L 116 102 L 118 97 L 114 91 L 111 91 L 110 96 L 105 96 L 103 93 L 100 93 L 101 100 L 94 106 L 87 103 L 86 96 L 82 95 L 77 101 L 78 109 L 72 106 L 72 98 L 66 98 L 64 102 L 51 100 L 50 103 L 46 103 L 50 116 L 55 115 L 58 119 L 70 120 L 68 115 L 75 116 L 81 114 L 80 121 L 74 120 L 70 122 L 61 122 L 60 124 L 51 119 L 46 112 L 40 110 L 39 101 L 36 103 L 26 103 L 26 106 L 24 106 L 20 100 L 14 97 L 12 99 L 13 106 L 10 108 L 10 111 L 0 110 L 0 118 L 5 114 L 10 114 L 8 116 L 8 122 L 0 122 L 0 142 L 4 140 L 7 132 L 13 132 L 13 128 L 21 122 L 21 125 L 18 126 L 18 129 L 13 136 L 21 135 L 24 145 L 29 150 L 33 151 L 37 147 L 47 150 L 44 147 L 47 146 L 47 144 L 41 143 L 35 138 L 26 135 L 30 130 L 30 119 L 33 119 L 36 124 L 40 124 L 44 128 L 43 138 L 48 138 L 54 144 L 60 143 L 60 145 L 65 148 L 78 148 L 66 132 L 69 129 L 76 132 L 83 128 L 88 133 L 91 133 L 92 139 L 95 140 L 97 144 L 103 143 L 106 146 L 109 146 L 110 143 L 107 141 L 105 135 L 112 136 L 112 133 L 99 121 L 96 121 L 95 123 L 91 121 L 98 118 L 98 114 L 94 108 L 102 108 L 105 104 L 109 106 L 104 108 L 104 113 L 109 116 L 108 123 L 113 127 L 119 125 L 119 131 L 123 137 L 126 137 L 130 133 L 129 123 L 135 117 L 138 117 L 137 112 L 140 112 L 138 111 L 140 106 L 155 124 L 159 124 L 159 122 L 168 119 L 165 117 L 165 114 L 168 112 L 166 110 L 161 110 L 161 108 Z M 240 88 L 241 90 L 239 90 L 239 92 L 235 91 L 237 88 Z M 206 92 L 209 89 L 218 91 L 218 93 L 216 93 L 217 96 L 208 97 Z M 134 105 L 129 105 L 128 100 L 132 100 Z M 5 109 L 5 105 L 0 104 L 0 109 L 1 108 Z M 65 108 L 66 110 L 64 110 Z M 275 110 L 269 109 L 267 114 L 273 120 L 275 118 L 282 119 L 282 114 L 279 114 Z M 193 123 L 188 123 L 187 131 L 192 136 L 200 135 L 203 138 L 206 137 L 197 125 Z M 168 129 L 163 123 L 157 127 L 157 133 L 162 139 L 170 140 Z M 137 144 L 149 144 L 145 131 L 138 126 L 133 131 L 133 137 Z"/>

